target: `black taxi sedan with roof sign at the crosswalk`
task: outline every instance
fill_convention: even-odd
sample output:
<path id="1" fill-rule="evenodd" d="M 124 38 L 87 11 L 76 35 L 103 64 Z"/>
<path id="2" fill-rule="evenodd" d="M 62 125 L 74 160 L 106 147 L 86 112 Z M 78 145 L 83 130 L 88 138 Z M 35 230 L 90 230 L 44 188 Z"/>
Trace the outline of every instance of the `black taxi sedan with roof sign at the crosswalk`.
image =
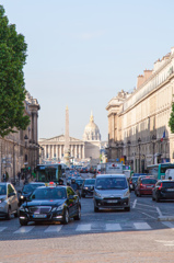
<path id="1" fill-rule="evenodd" d="M 70 186 L 37 187 L 21 205 L 19 215 L 21 226 L 30 221 L 68 224 L 70 218 L 81 219 L 80 198 Z"/>

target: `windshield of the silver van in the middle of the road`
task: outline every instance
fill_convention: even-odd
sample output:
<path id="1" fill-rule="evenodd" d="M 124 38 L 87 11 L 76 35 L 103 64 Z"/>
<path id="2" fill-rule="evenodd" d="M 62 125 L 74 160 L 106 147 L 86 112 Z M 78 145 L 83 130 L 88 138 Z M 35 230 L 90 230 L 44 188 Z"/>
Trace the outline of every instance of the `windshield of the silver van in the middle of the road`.
<path id="1" fill-rule="evenodd" d="M 103 178 L 97 179 L 96 181 L 97 190 L 125 190 L 127 187 L 127 181 L 125 178 Z"/>

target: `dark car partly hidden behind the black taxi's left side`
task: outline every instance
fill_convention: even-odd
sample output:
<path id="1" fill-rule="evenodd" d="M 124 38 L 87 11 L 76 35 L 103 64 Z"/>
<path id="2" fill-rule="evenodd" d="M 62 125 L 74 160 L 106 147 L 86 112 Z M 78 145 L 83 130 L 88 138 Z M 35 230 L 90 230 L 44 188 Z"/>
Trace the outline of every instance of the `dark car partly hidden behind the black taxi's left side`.
<path id="1" fill-rule="evenodd" d="M 19 197 L 19 206 L 21 206 L 26 201 L 26 198 L 30 197 L 33 191 L 39 186 L 45 186 L 45 183 L 33 182 L 33 183 L 25 184 L 22 191 L 19 191 L 19 193 L 21 194 Z"/>

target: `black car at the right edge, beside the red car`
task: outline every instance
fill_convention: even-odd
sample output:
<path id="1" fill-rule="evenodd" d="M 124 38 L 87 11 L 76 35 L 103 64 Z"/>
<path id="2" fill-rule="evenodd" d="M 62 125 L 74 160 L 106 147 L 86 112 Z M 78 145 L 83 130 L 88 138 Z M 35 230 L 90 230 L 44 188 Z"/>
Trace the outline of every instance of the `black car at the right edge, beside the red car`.
<path id="1" fill-rule="evenodd" d="M 152 190 L 152 201 L 174 199 L 174 181 L 159 180 Z"/>

